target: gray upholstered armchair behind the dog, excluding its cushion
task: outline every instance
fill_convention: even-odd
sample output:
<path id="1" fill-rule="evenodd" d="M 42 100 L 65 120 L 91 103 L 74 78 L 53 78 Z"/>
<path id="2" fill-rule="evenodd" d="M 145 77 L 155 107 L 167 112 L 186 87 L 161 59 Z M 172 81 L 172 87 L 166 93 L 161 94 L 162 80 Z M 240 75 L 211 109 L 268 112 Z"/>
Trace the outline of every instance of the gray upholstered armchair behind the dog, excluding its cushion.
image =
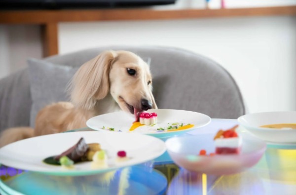
<path id="1" fill-rule="evenodd" d="M 195 111 L 212 118 L 237 118 L 245 114 L 242 95 L 229 73 L 213 60 L 183 49 L 111 46 L 51 56 L 43 60 L 79 67 L 107 49 L 129 50 L 151 59 L 153 94 L 159 109 Z M 32 103 L 28 68 L 1 79 L 0 131 L 8 127 L 29 126 Z"/>

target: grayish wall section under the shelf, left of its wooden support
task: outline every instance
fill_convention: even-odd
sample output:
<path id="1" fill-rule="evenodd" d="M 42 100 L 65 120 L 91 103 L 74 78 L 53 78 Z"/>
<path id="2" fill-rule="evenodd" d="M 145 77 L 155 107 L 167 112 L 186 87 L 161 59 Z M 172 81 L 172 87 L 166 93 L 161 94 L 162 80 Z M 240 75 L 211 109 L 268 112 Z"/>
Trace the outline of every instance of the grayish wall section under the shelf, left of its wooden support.
<path id="1" fill-rule="evenodd" d="M 42 57 L 41 28 L 0 25 L 0 78 L 27 66 L 28 57 Z"/>

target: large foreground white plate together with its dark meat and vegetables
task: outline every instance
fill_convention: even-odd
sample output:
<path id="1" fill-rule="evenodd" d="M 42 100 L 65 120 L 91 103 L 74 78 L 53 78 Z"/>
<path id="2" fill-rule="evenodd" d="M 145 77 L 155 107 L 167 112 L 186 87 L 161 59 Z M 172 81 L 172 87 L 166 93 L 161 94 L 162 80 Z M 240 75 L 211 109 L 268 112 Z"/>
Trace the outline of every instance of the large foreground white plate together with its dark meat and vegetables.
<path id="1" fill-rule="evenodd" d="M 91 143 L 100 146 L 89 146 Z M 88 156 L 91 151 L 94 153 Z M 0 163 L 51 175 L 91 175 L 143 163 L 164 152 L 164 142 L 147 135 L 70 132 L 9 144 L 0 149 Z M 48 158 L 56 164 L 44 162 Z"/>

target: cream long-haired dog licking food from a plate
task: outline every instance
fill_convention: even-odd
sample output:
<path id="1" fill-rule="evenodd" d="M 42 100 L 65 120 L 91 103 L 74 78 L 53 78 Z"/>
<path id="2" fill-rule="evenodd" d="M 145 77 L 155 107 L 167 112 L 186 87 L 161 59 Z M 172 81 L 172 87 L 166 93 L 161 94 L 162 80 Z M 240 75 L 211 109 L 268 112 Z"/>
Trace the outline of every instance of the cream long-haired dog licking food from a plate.
<path id="1" fill-rule="evenodd" d="M 68 89 L 71 102 L 58 102 L 40 110 L 35 129 L 6 129 L 0 147 L 33 136 L 82 128 L 97 115 L 123 110 L 138 120 L 141 112 L 157 109 L 149 66 L 129 51 L 102 52 L 78 69 Z"/>

